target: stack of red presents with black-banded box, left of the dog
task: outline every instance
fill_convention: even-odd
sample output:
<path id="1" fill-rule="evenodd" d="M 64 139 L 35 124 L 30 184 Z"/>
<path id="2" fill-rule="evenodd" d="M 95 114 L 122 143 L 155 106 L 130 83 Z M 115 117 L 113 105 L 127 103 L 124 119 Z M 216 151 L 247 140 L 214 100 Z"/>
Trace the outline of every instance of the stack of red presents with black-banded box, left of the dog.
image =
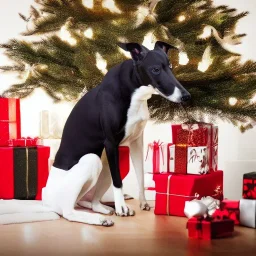
<path id="1" fill-rule="evenodd" d="M 0 199 L 41 200 L 50 148 L 21 137 L 20 100 L 0 98 Z"/>

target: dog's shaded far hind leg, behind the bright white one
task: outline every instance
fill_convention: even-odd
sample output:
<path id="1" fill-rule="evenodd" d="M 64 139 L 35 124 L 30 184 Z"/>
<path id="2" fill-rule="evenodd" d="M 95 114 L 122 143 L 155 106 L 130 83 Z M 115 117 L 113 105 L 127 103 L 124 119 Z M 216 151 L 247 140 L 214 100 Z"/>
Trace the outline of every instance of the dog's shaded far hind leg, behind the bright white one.
<path id="1" fill-rule="evenodd" d="M 103 214 L 113 214 L 115 212 L 113 208 L 107 205 L 104 205 L 100 202 L 103 195 L 111 186 L 111 174 L 110 174 L 109 164 L 107 161 L 105 151 L 102 154 L 101 160 L 102 160 L 103 168 L 96 184 L 92 202 L 79 201 L 77 204 L 79 206 L 92 209 L 94 212 L 99 212 Z"/>

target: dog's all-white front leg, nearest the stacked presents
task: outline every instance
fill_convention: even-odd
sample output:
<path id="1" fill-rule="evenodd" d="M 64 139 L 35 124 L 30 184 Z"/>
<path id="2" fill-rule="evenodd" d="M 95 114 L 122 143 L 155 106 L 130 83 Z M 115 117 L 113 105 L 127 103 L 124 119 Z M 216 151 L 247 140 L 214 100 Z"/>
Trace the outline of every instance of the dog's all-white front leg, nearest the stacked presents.
<path id="1" fill-rule="evenodd" d="M 143 133 L 135 141 L 130 144 L 131 158 L 135 168 L 138 184 L 139 184 L 139 200 L 141 210 L 149 211 L 150 206 L 145 198 L 144 188 L 144 168 L 143 168 Z"/>

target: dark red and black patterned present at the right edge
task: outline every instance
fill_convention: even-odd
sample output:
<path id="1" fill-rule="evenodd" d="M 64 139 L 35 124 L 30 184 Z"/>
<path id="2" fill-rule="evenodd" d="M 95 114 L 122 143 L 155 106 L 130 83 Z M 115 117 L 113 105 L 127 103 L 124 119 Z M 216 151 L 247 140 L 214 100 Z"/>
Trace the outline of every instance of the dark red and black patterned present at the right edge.
<path id="1" fill-rule="evenodd" d="M 256 172 L 245 173 L 243 176 L 243 198 L 256 199 Z"/>

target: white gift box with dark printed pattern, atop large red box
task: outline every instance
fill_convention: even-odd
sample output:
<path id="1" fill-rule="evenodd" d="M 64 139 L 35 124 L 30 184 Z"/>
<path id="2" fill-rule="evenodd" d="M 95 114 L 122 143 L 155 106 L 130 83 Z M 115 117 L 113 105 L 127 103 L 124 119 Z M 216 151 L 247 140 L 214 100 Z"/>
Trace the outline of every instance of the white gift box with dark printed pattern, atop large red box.
<path id="1" fill-rule="evenodd" d="M 188 147 L 187 174 L 206 174 L 209 172 L 208 147 Z"/>

